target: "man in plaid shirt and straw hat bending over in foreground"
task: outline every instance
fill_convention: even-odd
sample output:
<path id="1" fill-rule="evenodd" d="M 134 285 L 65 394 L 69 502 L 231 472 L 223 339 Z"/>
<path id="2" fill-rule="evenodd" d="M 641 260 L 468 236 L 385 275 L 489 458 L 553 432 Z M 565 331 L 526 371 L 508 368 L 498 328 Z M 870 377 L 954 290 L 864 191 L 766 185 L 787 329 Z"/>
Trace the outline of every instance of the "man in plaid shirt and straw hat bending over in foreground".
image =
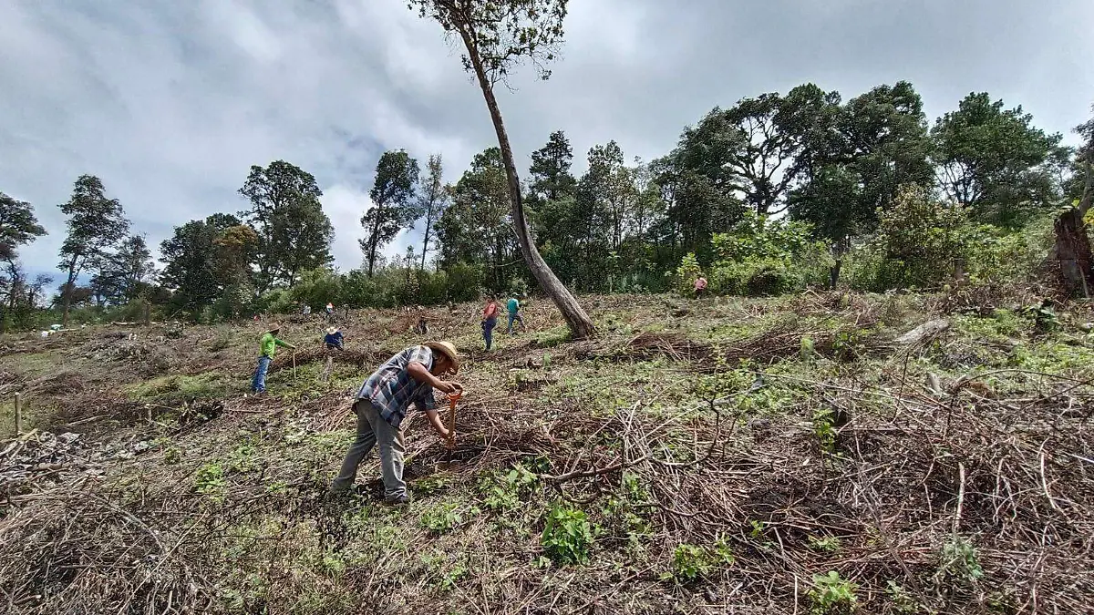
<path id="1" fill-rule="evenodd" d="M 333 492 L 345 492 L 357 477 L 357 468 L 374 444 L 380 445 L 380 473 L 384 478 L 384 502 L 410 501 L 403 480 L 403 431 L 399 425 L 410 404 L 424 410 L 430 425 L 442 438 L 449 430 L 441 422 L 433 402 L 433 390 L 455 393 L 461 386 L 438 376 L 459 371 L 459 356 L 449 341 L 428 341 L 411 346 L 380 365 L 364 381 L 353 403 L 357 414 L 357 439 L 342 462 L 341 472 L 330 484 Z"/>

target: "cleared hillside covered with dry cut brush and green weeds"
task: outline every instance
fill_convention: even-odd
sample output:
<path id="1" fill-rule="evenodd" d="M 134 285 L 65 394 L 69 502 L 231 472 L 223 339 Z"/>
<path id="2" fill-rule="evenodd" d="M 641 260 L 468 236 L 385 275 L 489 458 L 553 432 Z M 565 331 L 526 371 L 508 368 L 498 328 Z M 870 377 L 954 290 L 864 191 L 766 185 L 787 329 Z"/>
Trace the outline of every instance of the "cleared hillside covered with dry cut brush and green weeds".
<path id="1" fill-rule="evenodd" d="M 1094 337 L 1021 293 L 549 304 L 465 353 L 446 448 L 411 414 L 415 501 L 326 484 L 349 399 L 421 341 L 401 312 L 5 338 L 0 589 L 12 613 L 1078 613 L 1094 600 Z M 903 338 L 932 322 L 922 336 Z M 136 333 L 136 339 L 129 334 Z M 11 434 L 10 405 L 3 408 Z"/>

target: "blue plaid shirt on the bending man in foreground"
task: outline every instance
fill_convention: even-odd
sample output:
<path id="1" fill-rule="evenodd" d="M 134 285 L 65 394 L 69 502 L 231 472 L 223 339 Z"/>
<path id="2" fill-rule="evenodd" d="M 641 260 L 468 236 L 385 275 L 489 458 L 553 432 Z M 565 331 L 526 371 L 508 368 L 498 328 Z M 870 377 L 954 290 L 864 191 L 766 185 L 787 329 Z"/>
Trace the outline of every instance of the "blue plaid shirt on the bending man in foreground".
<path id="1" fill-rule="evenodd" d="M 424 346 L 411 346 L 392 357 L 369 376 L 357 393 L 358 399 L 369 399 L 388 425 L 398 429 L 407 414 L 407 406 L 415 404 L 419 410 L 434 410 L 433 387 L 410 378 L 407 368 L 411 362 L 421 363 L 427 370 L 433 367 L 433 351 Z"/>

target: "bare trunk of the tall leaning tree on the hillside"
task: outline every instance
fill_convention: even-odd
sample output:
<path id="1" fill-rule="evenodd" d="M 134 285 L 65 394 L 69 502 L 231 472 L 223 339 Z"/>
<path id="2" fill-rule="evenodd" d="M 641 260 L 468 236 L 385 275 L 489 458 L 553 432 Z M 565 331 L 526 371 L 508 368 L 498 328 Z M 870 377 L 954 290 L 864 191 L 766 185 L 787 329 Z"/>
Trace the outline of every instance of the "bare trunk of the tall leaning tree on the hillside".
<path id="1" fill-rule="evenodd" d="M 559 281 L 555 271 L 550 270 L 544 257 L 536 250 L 535 242 L 532 241 L 532 231 L 528 229 L 527 220 L 524 218 L 524 201 L 521 197 L 521 181 L 516 175 L 516 164 L 513 162 L 513 149 L 509 144 L 509 135 L 505 132 L 505 125 L 501 119 L 501 111 L 498 109 L 498 100 L 493 96 L 493 88 L 487 80 L 482 69 L 482 59 L 478 55 L 478 49 L 472 43 L 466 32 L 461 31 L 464 46 L 467 48 L 467 57 L 470 58 L 475 68 L 475 77 L 478 78 L 479 86 L 482 89 L 482 96 L 486 98 L 486 106 L 490 111 L 490 119 L 493 120 L 493 129 L 498 134 L 498 146 L 501 148 L 501 160 L 505 165 L 505 177 L 509 179 L 509 195 L 513 205 L 513 227 L 516 229 L 516 240 L 521 244 L 521 253 L 524 262 L 527 263 L 532 275 L 539 282 L 539 288 L 547 293 L 547 297 L 555 302 L 555 306 L 562 313 L 570 332 L 575 339 L 586 339 L 596 335 L 596 327 L 589 314 L 581 309 L 573 294 Z"/>

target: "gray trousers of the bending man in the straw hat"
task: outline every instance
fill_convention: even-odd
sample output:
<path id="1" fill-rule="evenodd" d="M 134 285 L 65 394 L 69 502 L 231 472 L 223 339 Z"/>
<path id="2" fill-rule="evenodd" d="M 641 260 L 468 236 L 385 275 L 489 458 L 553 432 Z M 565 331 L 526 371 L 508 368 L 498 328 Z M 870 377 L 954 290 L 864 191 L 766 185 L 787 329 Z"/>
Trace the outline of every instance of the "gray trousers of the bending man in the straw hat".
<path id="1" fill-rule="evenodd" d="M 330 484 L 331 491 L 345 491 L 353 485 L 357 468 L 374 444 L 380 445 L 380 474 L 384 478 L 384 497 L 396 498 L 407 492 L 403 481 L 403 453 L 406 446 L 403 432 L 387 423 L 369 399 L 353 404 L 357 414 L 357 439 L 346 453 L 338 477 Z"/>

